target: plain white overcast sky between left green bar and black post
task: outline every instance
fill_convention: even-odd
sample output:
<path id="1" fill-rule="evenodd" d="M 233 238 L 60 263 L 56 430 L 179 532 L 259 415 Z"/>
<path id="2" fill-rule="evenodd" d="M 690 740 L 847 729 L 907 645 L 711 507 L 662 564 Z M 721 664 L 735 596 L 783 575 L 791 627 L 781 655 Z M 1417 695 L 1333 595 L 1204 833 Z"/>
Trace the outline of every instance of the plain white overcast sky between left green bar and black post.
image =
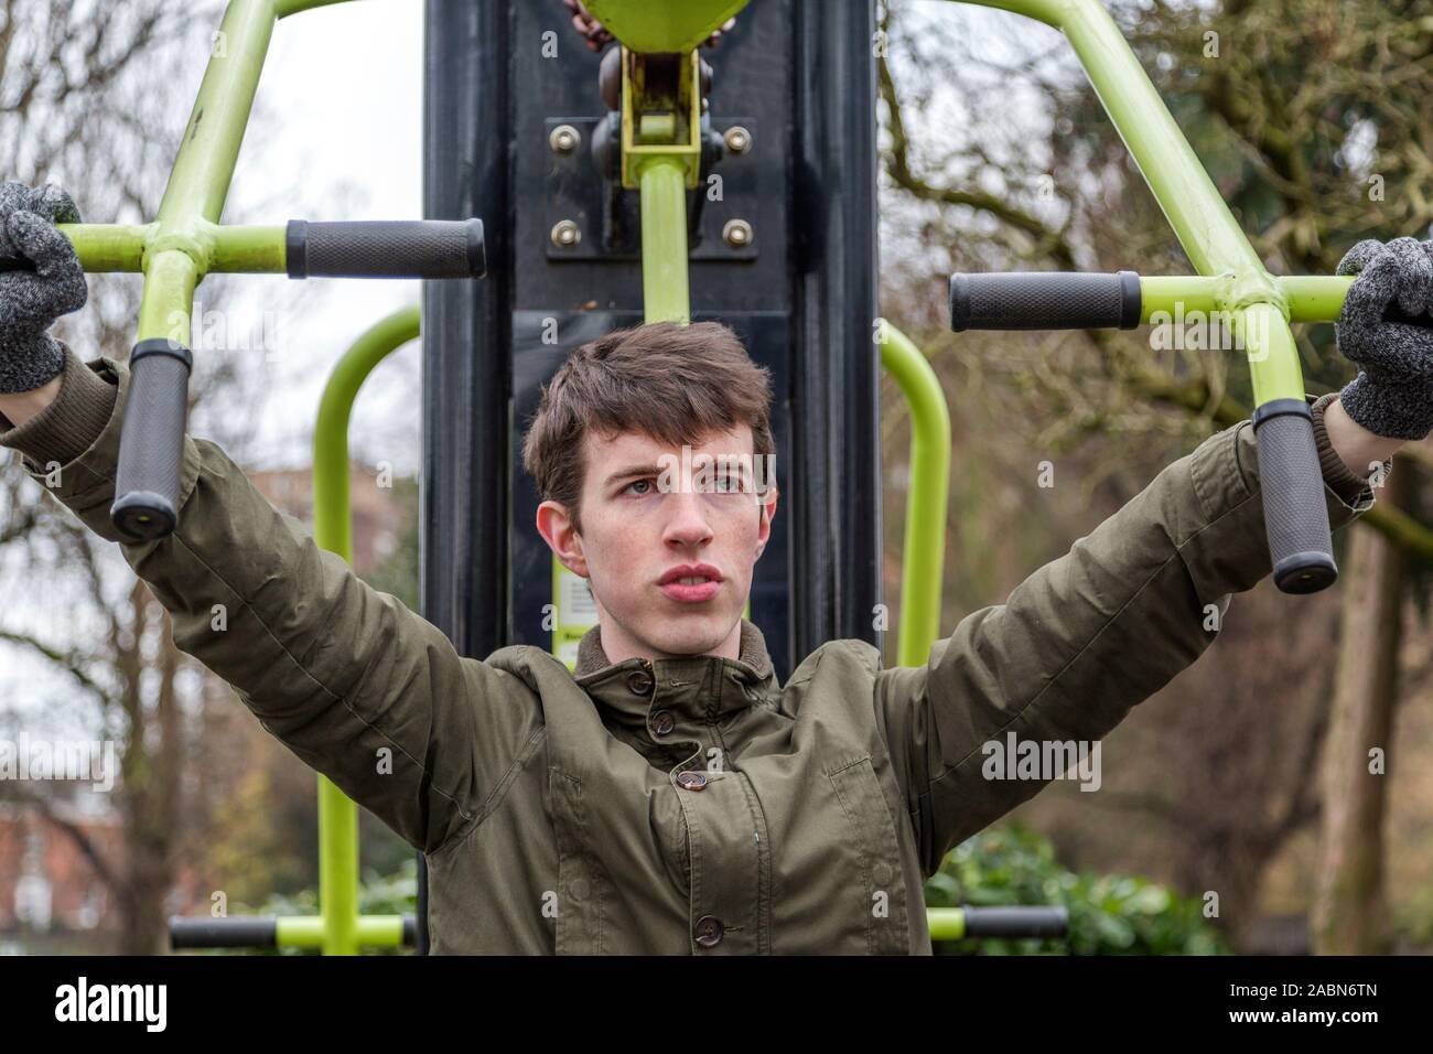
<path id="1" fill-rule="evenodd" d="M 277 26 L 226 222 L 423 217 L 423 7 L 421 0 L 363 0 L 304 11 Z M 195 86 L 205 57 L 193 56 Z M 275 211 L 274 199 L 285 189 L 292 205 Z M 259 445 L 248 462 L 308 465 L 312 420 L 332 364 L 370 324 L 417 304 L 420 283 L 255 275 L 228 288 L 239 283 L 244 305 L 235 311 L 248 320 L 238 324 L 249 333 L 265 326 L 262 307 L 274 303 L 265 291 L 285 304 L 298 298 L 277 327 L 269 324 L 281 336 L 281 354 L 259 409 Z M 282 285 L 291 288 L 275 288 Z M 417 470 L 418 357 L 414 343 L 364 387 L 351 429 L 355 456 Z"/>

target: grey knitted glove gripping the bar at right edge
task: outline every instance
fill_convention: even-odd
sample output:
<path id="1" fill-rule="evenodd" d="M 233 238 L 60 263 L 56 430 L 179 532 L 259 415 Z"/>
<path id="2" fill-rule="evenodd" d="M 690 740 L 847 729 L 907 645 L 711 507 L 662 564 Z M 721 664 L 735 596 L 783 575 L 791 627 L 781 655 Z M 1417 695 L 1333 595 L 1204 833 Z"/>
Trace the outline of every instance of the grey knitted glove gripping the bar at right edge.
<path id="1" fill-rule="evenodd" d="M 1358 376 L 1338 402 L 1376 436 L 1423 439 L 1433 432 L 1433 242 L 1360 241 L 1338 261 L 1358 278 L 1338 313 L 1338 350 Z M 1422 324 L 1419 324 L 1422 323 Z"/>

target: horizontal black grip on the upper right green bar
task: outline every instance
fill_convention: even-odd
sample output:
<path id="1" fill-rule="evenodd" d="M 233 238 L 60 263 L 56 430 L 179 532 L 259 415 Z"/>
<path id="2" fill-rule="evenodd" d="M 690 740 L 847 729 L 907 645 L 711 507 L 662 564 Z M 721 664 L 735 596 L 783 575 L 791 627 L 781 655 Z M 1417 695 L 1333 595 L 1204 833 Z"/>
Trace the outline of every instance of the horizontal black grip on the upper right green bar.
<path id="1" fill-rule="evenodd" d="M 1139 275 L 1009 271 L 950 275 L 950 328 L 1132 330 L 1139 326 Z"/>

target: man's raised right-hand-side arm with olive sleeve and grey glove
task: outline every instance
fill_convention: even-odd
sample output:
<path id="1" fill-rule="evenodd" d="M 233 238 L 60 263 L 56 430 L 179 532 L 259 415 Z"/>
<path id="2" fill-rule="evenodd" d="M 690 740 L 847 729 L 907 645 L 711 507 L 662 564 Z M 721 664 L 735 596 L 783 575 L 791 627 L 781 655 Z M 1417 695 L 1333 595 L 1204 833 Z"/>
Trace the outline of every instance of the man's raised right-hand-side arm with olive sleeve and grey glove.
<path id="1" fill-rule="evenodd" d="M 1313 406 L 1334 528 L 1373 503 L 1370 469 L 1386 472 L 1380 462 L 1433 427 L 1433 330 L 1389 321 L 1394 305 L 1407 315 L 1433 305 L 1433 244 L 1360 242 L 1340 272 L 1358 278 L 1338 344 L 1363 369 Z M 1033 779 L 1002 779 L 1025 776 L 1022 754 L 1088 756 L 1212 642 L 1230 595 L 1270 571 L 1258 446 L 1241 422 L 1161 472 L 1005 604 L 964 618 L 927 665 L 883 671 L 877 720 L 927 873 L 1058 774 L 1039 766 Z"/>

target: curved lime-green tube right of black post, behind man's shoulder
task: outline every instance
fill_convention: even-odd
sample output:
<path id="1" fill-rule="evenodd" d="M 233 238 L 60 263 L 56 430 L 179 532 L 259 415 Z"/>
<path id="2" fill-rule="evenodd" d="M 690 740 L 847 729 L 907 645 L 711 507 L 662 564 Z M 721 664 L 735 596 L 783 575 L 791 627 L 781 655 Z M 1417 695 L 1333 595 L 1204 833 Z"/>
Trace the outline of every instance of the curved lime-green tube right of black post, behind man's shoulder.
<path id="1" fill-rule="evenodd" d="M 901 554 L 898 665 L 924 665 L 940 632 L 950 489 L 950 410 L 940 379 L 910 338 L 881 321 L 881 366 L 910 407 L 910 486 Z"/>

